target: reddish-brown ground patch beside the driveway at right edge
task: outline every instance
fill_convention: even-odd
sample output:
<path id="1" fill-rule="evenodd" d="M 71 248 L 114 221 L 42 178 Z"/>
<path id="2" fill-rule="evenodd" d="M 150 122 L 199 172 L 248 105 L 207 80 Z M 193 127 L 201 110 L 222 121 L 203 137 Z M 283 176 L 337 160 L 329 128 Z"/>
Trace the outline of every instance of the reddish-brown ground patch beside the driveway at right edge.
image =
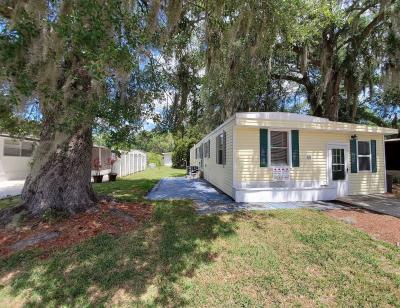
<path id="1" fill-rule="evenodd" d="M 400 246 L 400 219 L 369 212 L 358 208 L 330 210 L 326 212 L 330 217 L 342 220 L 345 223 L 359 228 L 373 238 Z"/>

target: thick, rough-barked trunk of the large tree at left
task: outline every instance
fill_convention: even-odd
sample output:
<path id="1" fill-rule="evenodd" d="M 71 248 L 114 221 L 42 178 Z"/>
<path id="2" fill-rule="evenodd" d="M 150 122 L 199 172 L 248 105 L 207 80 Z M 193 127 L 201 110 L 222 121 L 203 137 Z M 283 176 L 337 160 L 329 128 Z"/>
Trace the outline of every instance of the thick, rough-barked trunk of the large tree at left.
<path id="1" fill-rule="evenodd" d="M 95 204 L 90 183 L 90 125 L 81 125 L 75 132 L 59 132 L 50 122 L 44 123 L 22 191 L 24 205 L 32 216 L 49 209 L 73 214 Z"/>

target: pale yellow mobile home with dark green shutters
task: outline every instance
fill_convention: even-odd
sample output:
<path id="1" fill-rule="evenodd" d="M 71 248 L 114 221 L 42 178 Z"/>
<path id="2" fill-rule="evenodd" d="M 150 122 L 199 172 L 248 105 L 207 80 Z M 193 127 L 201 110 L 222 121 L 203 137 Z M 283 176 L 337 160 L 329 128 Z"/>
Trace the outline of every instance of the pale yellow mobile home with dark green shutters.
<path id="1" fill-rule="evenodd" d="M 236 113 L 190 150 L 190 164 L 237 202 L 383 193 L 384 136 L 395 133 L 291 113 Z"/>

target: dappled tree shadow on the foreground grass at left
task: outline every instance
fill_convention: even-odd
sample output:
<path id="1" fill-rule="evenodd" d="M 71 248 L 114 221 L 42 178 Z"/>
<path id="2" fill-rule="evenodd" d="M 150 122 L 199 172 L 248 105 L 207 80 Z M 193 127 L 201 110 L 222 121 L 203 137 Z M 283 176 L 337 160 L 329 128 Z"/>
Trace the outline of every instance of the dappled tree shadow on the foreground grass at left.
<path id="1" fill-rule="evenodd" d="M 235 218 L 198 216 L 185 201 L 154 207 L 149 223 L 118 238 L 103 234 L 45 260 L 40 251 L 0 259 L 0 279 L 16 273 L 0 297 L 27 291 L 28 306 L 184 305 L 175 282 L 213 262 L 212 242 L 235 234 Z"/>

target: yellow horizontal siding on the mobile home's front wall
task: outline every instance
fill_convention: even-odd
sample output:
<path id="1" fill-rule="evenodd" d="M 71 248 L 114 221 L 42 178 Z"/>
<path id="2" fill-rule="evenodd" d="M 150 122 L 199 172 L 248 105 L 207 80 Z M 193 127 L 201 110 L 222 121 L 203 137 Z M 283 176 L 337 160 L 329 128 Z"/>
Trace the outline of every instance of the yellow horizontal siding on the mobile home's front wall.
<path id="1" fill-rule="evenodd" d="M 272 168 L 260 167 L 259 128 L 238 127 L 236 131 L 236 181 L 240 183 L 272 180 Z M 349 145 L 351 135 L 352 133 L 347 132 L 300 130 L 300 167 L 291 168 L 291 180 L 328 184 L 327 145 Z M 382 193 L 385 190 L 383 135 L 357 133 L 357 136 L 358 140 L 376 140 L 378 172 L 349 173 L 349 194 Z M 311 155 L 311 160 L 306 160 L 307 155 Z M 348 165 L 350 169 L 350 162 Z"/>

